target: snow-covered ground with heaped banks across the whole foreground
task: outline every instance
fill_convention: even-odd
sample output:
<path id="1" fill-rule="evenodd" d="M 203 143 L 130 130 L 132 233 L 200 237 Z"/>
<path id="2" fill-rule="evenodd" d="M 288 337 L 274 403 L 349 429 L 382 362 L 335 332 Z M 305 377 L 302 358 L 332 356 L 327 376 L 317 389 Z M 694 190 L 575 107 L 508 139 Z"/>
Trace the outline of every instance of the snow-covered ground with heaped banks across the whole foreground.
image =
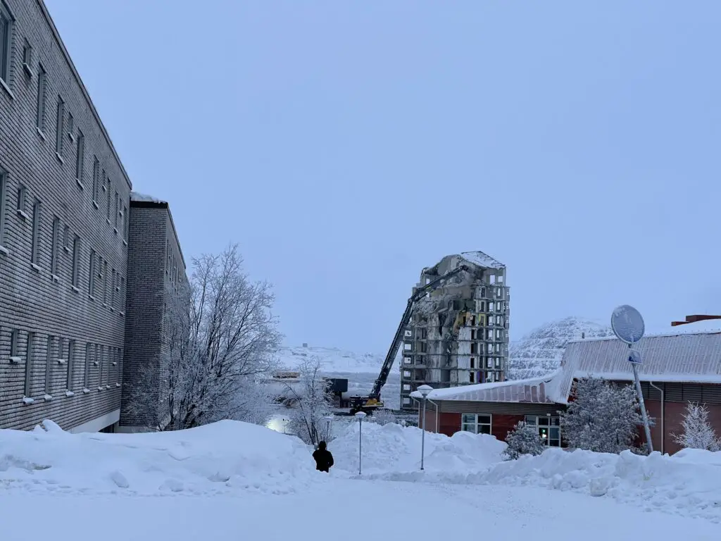
<path id="1" fill-rule="evenodd" d="M 550 449 L 499 462 L 505 444 L 489 436 L 426 434 L 420 472 L 420 430 L 363 423 L 359 479 L 358 425 L 339 429 L 330 475 L 298 439 L 234 421 L 165 434 L 67 434 L 54 423 L 0 431 L 1 538 L 310 540 L 318 522 L 381 541 L 479 532 L 544 541 L 559 531 L 717 540 L 721 531 L 721 454 Z"/>

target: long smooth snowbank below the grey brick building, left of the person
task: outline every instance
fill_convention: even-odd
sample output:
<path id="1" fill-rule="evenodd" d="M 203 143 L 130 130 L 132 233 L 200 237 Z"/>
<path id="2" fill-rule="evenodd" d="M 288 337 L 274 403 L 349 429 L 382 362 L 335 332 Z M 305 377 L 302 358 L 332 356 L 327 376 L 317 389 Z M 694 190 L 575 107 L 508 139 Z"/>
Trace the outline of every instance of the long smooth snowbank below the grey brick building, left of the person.
<path id="1" fill-rule="evenodd" d="M 69 434 L 52 421 L 43 427 L 0 431 L 1 487 L 139 495 L 292 493 L 315 477 L 310 451 L 299 439 L 237 421 L 152 434 Z"/>

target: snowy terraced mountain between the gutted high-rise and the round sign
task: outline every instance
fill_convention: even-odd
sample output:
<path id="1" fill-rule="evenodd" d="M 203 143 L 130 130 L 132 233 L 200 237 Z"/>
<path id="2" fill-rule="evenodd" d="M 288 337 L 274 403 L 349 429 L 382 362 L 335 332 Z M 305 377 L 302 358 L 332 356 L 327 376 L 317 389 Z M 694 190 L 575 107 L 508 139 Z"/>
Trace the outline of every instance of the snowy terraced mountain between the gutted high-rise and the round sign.
<path id="1" fill-rule="evenodd" d="M 549 374 L 561 364 L 569 340 L 613 336 L 610 326 L 581 317 L 566 317 L 533 330 L 508 348 L 508 379 Z"/>

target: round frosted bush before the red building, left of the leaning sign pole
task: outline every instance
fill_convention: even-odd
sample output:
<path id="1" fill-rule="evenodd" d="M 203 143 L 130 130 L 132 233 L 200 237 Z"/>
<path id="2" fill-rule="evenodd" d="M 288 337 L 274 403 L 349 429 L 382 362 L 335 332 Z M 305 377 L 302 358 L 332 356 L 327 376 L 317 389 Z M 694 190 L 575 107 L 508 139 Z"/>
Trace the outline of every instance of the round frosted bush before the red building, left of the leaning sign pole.
<path id="1" fill-rule="evenodd" d="M 562 434 L 569 447 L 602 453 L 634 447 L 643 424 L 634 387 L 583 378 L 575 383 L 571 396 L 561 413 Z M 649 422 L 653 421 L 649 418 Z"/>

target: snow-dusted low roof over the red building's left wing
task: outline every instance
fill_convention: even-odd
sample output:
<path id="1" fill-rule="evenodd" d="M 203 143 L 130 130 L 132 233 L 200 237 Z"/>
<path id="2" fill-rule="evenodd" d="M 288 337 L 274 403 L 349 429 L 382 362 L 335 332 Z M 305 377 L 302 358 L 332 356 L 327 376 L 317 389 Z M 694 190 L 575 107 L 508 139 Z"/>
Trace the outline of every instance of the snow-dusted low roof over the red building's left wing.
<path id="1" fill-rule="evenodd" d="M 430 400 L 467 400 L 469 402 L 565 404 L 567 395 L 559 395 L 557 385 L 559 379 L 556 375 L 554 373 L 541 378 L 434 389 L 429 393 L 428 398 Z M 412 392 L 411 396 L 423 397 L 418 391 Z"/>

